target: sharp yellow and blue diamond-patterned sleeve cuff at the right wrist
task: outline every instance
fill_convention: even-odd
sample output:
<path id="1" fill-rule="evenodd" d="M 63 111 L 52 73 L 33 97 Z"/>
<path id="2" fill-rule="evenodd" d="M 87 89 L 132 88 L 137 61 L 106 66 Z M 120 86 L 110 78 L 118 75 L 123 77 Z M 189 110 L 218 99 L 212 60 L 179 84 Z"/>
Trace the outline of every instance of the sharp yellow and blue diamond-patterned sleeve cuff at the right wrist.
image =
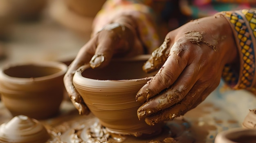
<path id="1" fill-rule="evenodd" d="M 236 72 L 226 65 L 222 77 L 234 89 L 255 91 L 256 86 L 256 10 L 224 11 L 233 29 L 240 57 L 240 69 Z"/>

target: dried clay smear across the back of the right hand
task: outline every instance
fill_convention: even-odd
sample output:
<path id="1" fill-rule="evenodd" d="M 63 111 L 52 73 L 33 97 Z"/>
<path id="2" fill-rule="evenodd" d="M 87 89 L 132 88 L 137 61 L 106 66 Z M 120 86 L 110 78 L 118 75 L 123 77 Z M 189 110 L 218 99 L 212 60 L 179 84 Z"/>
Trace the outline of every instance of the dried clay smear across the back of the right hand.
<path id="1" fill-rule="evenodd" d="M 200 32 L 189 31 L 189 32 L 185 33 L 185 35 L 191 37 L 191 40 L 189 40 L 190 42 L 197 44 L 198 46 L 200 46 L 200 42 L 202 42 L 202 43 L 206 44 L 207 46 L 209 46 L 210 48 L 212 48 L 214 51 L 216 51 L 216 47 L 214 45 L 212 45 L 211 43 L 205 41 Z"/>

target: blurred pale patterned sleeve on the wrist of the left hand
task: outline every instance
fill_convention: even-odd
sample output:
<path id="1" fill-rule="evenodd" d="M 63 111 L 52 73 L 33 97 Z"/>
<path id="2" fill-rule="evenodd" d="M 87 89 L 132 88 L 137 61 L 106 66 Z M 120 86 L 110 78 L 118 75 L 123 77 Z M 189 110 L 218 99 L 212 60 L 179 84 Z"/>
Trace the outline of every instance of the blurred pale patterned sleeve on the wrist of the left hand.
<path id="1" fill-rule="evenodd" d="M 145 1 L 145 2 L 144 2 Z M 159 46 L 159 37 L 155 29 L 153 10 L 148 7 L 147 0 L 107 0 L 94 18 L 92 35 L 100 31 L 106 24 L 121 15 L 132 15 L 137 20 L 137 30 L 141 41 L 151 53 Z"/>

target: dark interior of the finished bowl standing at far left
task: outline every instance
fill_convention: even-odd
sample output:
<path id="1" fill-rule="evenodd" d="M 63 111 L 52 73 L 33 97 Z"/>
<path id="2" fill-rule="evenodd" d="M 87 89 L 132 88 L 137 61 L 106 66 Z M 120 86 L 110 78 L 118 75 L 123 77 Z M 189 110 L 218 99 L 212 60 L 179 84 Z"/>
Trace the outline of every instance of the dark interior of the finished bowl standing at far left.
<path id="1" fill-rule="evenodd" d="M 10 77 L 31 78 L 31 77 L 44 77 L 47 75 L 58 73 L 60 71 L 61 71 L 60 68 L 29 64 L 29 65 L 20 65 L 20 66 L 10 67 L 4 70 L 4 74 Z"/>

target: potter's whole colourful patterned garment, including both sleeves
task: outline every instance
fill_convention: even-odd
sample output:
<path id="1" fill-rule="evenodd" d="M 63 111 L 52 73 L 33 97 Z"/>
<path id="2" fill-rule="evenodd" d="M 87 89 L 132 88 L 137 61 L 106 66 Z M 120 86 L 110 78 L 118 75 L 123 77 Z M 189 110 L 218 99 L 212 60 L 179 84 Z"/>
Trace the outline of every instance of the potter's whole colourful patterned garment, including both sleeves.
<path id="1" fill-rule="evenodd" d="M 191 19 L 225 15 L 234 31 L 240 51 L 240 70 L 226 65 L 223 79 L 235 89 L 256 89 L 256 7 L 255 0 L 107 0 L 94 20 L 94 33 L 118 15 L 134 15 L 140 39 L 151 53 L 165 35 Z M 244 9 L 240 11 L 231 11 Z M 156 26 L 157 25 L 157 26 Z M 161 42 L 159 42 L 159 40 Z"/>

